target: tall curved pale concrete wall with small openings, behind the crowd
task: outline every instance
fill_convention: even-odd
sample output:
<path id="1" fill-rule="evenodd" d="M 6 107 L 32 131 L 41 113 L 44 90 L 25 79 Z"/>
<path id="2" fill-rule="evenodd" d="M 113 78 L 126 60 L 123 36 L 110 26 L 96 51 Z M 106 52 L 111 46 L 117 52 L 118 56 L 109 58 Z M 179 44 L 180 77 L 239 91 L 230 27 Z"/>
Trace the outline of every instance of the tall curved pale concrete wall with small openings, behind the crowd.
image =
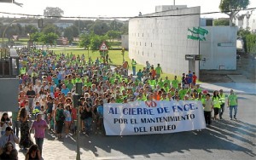
<path id="1" fill-rule="evenodd" d="M 134 18 L 129 21 L 129 57 L 145 65 L 146 61 L 156 66 L 160 63 L 164 72 L 181 75 L 189 71 L 185 54 L 198 54 L 199 43 L 187 39 L 188 28 L 199 26 L 200 7 L 177 9 L 146 14 L 146 16 L 194 14 Z M 199 72 L 198 62 L 195 72 Z"/>

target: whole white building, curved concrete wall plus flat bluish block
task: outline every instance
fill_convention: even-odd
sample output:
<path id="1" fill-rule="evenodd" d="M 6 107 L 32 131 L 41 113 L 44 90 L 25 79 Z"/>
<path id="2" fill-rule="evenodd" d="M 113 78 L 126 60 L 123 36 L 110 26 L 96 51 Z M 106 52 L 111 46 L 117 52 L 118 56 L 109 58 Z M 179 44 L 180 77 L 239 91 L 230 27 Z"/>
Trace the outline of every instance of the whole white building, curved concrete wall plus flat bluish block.
<path id="1" fill-rule="evenodd" d="M 197 76 L 200 70 L 236 70 L 237 27 L 206 26 L 208 22 L 200 19 L 200 10 L 174 9 L 131 19 L 129 57 L 143 65 L 147 60 L 154 66 L 160 63 L 163 71 L 175 75 L 189 70 Z M 188 39 L 188 28 L 200 24 L 209 30 L 207 41 Z M 186 54 L 201 54 L 202 59 L 185 60 Z"/>

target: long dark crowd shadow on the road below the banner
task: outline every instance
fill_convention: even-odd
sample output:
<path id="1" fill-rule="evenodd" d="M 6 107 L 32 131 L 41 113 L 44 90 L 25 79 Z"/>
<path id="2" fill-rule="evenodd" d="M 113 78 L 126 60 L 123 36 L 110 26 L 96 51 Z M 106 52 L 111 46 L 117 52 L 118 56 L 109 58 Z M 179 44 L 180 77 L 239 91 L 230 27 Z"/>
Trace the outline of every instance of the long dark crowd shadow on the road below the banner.
<path id="1" fill-rule="evenodd" d="M 201 132 L 134 136 L 81 135 L 80 145 L 85 151 L 92 151 L 96 157 L 101 156 L 101 151 L 109 155 L 112 151 L 119 151 L 134 158 L 135 155 L 150 157 L 149 154 L 152 153 L 163 155 L 176 151 L 183 153 L 189 150 L 242 151 L 249 157 L 255 157 L 255 133 L 256 126 L 253 124 L 221 120 L 218 123 L 212 123 L 210 128 L 203 129 Z M 74 146 L 76 141 L 63 140 L 63 145 L 75 151 L 70 144 Z"/>

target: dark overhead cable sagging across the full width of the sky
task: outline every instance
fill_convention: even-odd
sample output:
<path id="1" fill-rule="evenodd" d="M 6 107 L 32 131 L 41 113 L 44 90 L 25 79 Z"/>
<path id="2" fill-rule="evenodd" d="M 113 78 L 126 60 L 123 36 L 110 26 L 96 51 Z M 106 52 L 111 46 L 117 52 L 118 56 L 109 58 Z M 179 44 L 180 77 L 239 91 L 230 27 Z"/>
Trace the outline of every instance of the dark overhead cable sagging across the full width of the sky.
<path id="1" fill-rule="evenodd" d="M 253 10 L 256 8 L 249 8 L 249 9 L 241 9 L 243 11 L 246 10 Z M 234 11 L 241 11 L 241 10 L 231 10 Z M 101 20 L 109 20 L 109 19 L 136 19 L 136 18 L 158 18 L 158 17 L 179 17 L 179 16 L 188 16 L 188 15 L 205 15 L 205 14 L 224 14 L 229 13 L 230 10 L 220 12 L 206 12 L 206 13 L 197 13 L 197 14 L 169 14 L 169 15 L 143 15 L 143 16 L 134 16 L 134 17 L 81 17 L 81 16 L 44 16 L 42 14 L 15 14 L 15 13 L 9 13 L 9 12 L 0 12 L 0 14 L 11 14 L 11 15 L 21 15 L 21 16 L 27 16 L 27 17 L 39 17 L 39 18 L 63 18 L 63 19 L 101 19 Z"/>

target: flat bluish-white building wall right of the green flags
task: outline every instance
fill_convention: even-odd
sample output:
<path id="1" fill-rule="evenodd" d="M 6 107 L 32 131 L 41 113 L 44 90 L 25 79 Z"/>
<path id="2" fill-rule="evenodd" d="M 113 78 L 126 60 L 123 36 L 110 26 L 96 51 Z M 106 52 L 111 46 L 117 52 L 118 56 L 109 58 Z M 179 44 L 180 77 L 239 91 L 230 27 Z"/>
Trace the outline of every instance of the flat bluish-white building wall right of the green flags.
<path id="1" fill-rule="evenodd" d="M 236 70 L 236 26 L 206 26 L 207 41 L 200 42 L 201 70 Z"/>

